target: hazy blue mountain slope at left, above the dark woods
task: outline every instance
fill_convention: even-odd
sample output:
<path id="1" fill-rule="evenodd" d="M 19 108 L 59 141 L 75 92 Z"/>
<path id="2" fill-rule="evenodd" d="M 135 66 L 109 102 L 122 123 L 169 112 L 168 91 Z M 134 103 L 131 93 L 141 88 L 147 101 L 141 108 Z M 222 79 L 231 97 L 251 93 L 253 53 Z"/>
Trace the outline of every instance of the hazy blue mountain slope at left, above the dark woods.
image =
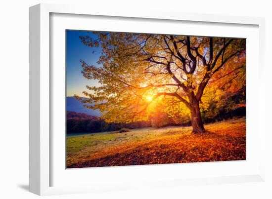
<path id="1" fill-rule="evenodd" d="M 91 116 L 100 116 L 99 110 L 87 109 L 83 104 L 77 100 L 75 97 L 66 97 L 66 110 L 75 111 L 77 113 L 84 113 Z"/>

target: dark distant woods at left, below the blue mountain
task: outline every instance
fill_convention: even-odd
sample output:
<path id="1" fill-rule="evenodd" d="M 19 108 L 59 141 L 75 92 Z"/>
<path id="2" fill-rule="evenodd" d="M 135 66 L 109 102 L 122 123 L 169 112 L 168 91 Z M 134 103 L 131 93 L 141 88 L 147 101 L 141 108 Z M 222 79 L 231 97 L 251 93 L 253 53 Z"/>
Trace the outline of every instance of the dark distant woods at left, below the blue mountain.
<path id="1" fill-rule="evenodd" d="M 150 121 L 137 121 L 132 123 L 107 123 L 104 119 L 74 111 L 67 111 L 67 133 L 94 133 L 115 131 L 121 128 L 143 128 L 151 126 Z"/>

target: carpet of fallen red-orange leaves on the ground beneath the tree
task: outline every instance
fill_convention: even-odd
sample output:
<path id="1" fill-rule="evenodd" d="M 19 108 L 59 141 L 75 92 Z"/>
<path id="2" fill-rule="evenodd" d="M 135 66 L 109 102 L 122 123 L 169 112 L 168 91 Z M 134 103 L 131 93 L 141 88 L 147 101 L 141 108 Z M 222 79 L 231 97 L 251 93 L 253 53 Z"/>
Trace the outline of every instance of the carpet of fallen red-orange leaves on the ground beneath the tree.
<path id="1" fill-rule="evenodd" d="M 107 147 L 67 168 L 246 159 L 245 122 L 219 122 L 206 132 L 166 133 Z"/>

